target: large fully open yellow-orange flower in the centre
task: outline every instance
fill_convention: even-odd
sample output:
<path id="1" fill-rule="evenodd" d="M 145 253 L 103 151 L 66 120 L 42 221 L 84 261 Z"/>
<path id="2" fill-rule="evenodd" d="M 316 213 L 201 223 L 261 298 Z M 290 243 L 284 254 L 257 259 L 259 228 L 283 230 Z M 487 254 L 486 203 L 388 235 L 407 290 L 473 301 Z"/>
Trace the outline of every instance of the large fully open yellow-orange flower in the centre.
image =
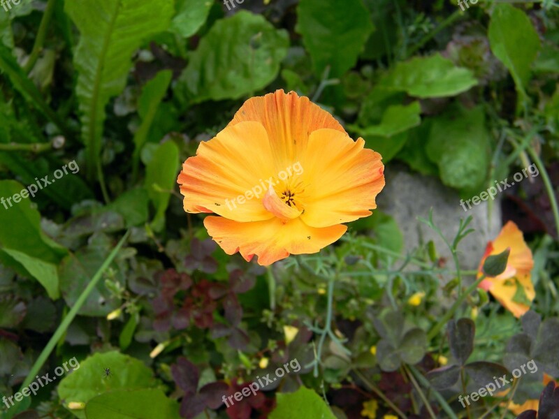
<path id="1" fill-rule="evenodd" d="M 377 207 L 384 166 L 364 145 L 293 91 L 250 98 L 182 165 L 184 210 L 217 214 L 204 219 L 213 240 L 260 265 L 316 253 Z"/>

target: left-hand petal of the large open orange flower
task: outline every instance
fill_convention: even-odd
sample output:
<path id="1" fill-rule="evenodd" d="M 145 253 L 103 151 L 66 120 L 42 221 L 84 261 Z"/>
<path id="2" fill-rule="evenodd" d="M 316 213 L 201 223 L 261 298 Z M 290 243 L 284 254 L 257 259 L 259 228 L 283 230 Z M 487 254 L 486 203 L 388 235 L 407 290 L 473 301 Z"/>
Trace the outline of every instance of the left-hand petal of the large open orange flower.
<path id="1" fill-rule="evenodd" d="M 202 142 L 177 179 L 186 212 L 215 212 L 235 221 L 261 221 L 265 179 L 275 175 L 270 142 L 258 122 L 228 126 Z"/>

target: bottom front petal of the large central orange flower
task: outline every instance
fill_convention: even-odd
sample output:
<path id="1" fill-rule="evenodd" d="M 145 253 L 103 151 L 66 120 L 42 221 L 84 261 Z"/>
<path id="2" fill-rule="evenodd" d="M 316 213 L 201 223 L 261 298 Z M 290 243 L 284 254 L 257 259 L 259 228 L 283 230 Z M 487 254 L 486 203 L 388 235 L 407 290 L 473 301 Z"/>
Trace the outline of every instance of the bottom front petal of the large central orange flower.
<path id="1" fill-rule="evenodd" d="M 338 240 L 347 226 L 326 228 L 307 226 L 300 218 L 282 221 L 273 218 L 254 223 L 238 223 L 219 216 L 207 216 L 204 226 L 225 253 L 240 252 L 245 260 L 258 256 L 259 265 L 270 265 L 290 253 L 317 253 Z"/>

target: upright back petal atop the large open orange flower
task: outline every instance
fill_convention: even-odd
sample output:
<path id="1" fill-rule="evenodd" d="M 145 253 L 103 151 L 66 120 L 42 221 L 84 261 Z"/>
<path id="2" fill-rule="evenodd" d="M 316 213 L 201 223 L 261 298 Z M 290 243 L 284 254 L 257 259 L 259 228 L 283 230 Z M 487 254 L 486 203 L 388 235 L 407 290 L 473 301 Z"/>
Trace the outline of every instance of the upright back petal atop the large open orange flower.
<path id="1" fill-rule="evenodd" d="M 289 167 L 307 148 L 310 133 L 319 128 L 332 128 L 345 133 L 344 128 L 326 110 L 312 103 L 307 97 L 300 97 L 294 91 L 283 90 L 250 98 L 229 126 L 243 121 L 263 124 L 270 138 L 275 172 Z"/>

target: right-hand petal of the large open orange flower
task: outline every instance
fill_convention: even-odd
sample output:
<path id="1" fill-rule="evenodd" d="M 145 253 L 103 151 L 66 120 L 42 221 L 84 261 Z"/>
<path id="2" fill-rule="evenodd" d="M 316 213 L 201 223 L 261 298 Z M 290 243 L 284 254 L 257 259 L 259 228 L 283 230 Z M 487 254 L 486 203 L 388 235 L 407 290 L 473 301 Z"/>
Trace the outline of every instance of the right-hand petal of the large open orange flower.
<path id="1" fill-rule="evenodd" d="M 309 226 L 347 223 L 377 207 L 375 198 L 384 187 L 382 157 L 363 145 L 362 138 L 354 141 L 333 129 L 311 133 L 300 159 L 305 184 L 301 218 Z"/>

